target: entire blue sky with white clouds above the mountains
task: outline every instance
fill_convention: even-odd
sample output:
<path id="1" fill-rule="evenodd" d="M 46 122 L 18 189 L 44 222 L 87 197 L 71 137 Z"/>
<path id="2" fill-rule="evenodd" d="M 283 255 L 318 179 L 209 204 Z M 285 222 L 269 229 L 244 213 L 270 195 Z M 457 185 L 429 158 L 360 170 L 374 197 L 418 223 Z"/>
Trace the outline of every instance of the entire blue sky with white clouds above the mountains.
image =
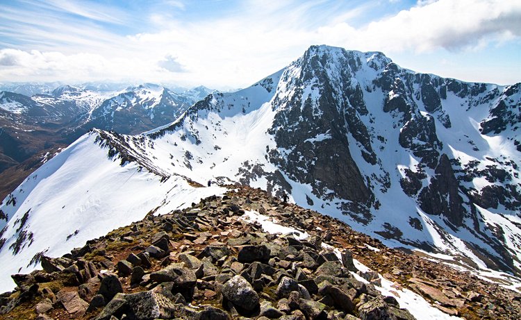
<path id="1" fill-rule="evenodd" d="M 313 44 L 521 82 L 520 0 L 2 0 L 0 83 L 247 87 Z"/>

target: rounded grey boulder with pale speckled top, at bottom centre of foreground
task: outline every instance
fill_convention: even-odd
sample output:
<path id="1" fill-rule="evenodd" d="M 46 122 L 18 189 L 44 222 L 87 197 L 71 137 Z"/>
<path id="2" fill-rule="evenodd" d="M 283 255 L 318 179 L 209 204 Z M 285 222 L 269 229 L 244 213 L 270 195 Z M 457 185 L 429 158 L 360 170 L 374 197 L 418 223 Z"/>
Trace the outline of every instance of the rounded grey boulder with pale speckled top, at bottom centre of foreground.
<path id="1" fill-rule="evenodd" d="M 260 306 L 257 292 L 242 276 L 234 276 L 222 287 L 222 295 L 235 307 L 252 311 Z"/>

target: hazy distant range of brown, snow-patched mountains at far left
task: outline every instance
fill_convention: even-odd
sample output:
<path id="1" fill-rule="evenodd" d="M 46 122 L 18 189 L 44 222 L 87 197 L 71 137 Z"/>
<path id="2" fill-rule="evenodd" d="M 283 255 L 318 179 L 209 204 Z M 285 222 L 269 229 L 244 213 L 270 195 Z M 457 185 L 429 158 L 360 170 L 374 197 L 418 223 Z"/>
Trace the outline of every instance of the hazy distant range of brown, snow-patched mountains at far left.
<path id="1" fill-rule="evenodd" d="M 174 93 L 151 83 L 123 89 L 106 83 L 52 85 L 4 85 L 13 92 L 0 91 L 1 198 L 49 155 L 91 128 L 142 133 L 169 124 L 213 92 L 201 86 Z"/>

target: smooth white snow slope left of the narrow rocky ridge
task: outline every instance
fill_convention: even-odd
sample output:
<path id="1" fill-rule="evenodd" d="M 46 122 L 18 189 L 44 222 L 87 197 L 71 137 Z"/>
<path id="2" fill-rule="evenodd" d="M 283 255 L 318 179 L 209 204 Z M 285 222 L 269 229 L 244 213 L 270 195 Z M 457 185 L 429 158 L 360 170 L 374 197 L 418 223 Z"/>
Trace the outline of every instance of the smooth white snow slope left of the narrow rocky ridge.
<path id="1" fill-rule="evenodd" d="M 9 263 L 2 263 L 0 291 L 14 287 L 10 274 L 33 270 L 31 260 L 38 254 L 61 256 L 162 204 L 162 210 L 186 208 L 224 191 L 195 188 L 179 176 L 165 180 L 133 163 L 120 166 L 97 137 L 95 132 L 81 137 L 3 201 L 10 223 L 0 220 L 1 237 L 8 239 L 0 261 Z"/>

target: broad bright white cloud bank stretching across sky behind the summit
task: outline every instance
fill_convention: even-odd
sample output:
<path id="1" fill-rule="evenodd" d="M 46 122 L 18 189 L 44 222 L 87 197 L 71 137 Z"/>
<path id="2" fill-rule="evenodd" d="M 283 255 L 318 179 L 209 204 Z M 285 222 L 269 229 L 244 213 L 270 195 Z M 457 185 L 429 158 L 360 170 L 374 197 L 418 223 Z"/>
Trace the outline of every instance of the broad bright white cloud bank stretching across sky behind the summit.
<path id="1" fill-rule="evenodd" d="M 370 15 L 378 3 L 344 8 L 326 1 L 240 1 L 240 7 L 225 15 L 194 21 L 156 11 L 139 18 L 140 23 L 149 19 L 148 32 L 127 36 L 98 24 L 57 19 L 56 12 L 31 22 L 31 12 L 16 15 L 6 9 L 0 19 L 14 21 L 17 36 L 27 44 L 22 50 L 0 50 L 0 81 L 135 79 L 244 87 L 288 65 L 311 44 L 392 56 L 404 51 L 480 50 L 521 37 L 521 1 L 418 1 L 413 8 L 365 26 L 350 23 Z M 109 19 L 99 8 L 85 11 L 73 4 L 64 10 L 96 21 Z M 188 10 L 181 1 L 163 4 Z M 126 19 L 124 14 L 117 17 Z M 0 22 L 0 39 L 12 33 Z M 34 48 L 38 51 L 31 51 Z M 79 79 L 82 76 L 85 79 Z"/>

